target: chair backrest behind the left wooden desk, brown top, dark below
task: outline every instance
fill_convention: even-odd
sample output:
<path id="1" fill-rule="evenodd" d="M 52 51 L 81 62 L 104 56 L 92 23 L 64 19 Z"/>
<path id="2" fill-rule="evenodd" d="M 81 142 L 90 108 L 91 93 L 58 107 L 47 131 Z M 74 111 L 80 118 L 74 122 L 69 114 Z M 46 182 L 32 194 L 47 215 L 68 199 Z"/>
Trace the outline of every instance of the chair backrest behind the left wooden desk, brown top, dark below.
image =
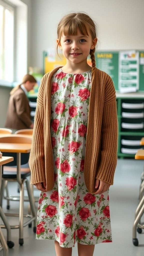
<path id="1" fill-rule="evenodd" d="M 27 143 L 31 144 L 32 143 L 32 138 L 27 138 L 27 137 L 0 137 L 0 143 Z M 15 166 L 17 165 L 17 154 L 16 153 L 10 153 L 10 152 L 3 152 L 3 156 L 13 156 L 14 161 L 10 162 L 8 164 L 5 164 L 7 166 Z M 21 165 L 28 163 L 29 160 L 29 153 L 22 153 L 21 154 Z"/>

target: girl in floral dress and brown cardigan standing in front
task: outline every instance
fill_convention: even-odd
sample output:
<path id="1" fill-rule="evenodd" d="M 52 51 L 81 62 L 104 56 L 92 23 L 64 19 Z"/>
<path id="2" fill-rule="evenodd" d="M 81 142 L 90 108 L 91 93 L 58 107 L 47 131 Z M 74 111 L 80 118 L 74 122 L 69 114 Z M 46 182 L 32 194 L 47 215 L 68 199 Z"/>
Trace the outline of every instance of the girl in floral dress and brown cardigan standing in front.
<path id="1" fill-rule="evenodd" d="M 113 82 L 95 65 L 96 27 L 84 13 L 63 17 L 57 47 L 66 65 L 39 88 L 29 165 L 41 192 L 37 239 L 55 240 L 57 256 L 92 256 L 112 242 L 108 189 L 117 163 Z M 87 64 L 90 54 L 92 68 Z"/>

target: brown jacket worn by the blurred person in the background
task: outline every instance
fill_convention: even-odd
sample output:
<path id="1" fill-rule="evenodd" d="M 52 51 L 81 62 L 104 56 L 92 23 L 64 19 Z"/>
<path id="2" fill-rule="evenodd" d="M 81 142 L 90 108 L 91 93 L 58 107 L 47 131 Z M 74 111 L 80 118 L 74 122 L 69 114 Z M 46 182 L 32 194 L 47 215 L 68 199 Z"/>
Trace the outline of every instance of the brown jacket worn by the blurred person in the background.
<path id="1" fill-rule="evenodd" d="M 25 92 L 21 87 L 13 90 L 9 98 L 5 127 L 11 129 L 27 129 L 32 124 L 30 106 Z"/>

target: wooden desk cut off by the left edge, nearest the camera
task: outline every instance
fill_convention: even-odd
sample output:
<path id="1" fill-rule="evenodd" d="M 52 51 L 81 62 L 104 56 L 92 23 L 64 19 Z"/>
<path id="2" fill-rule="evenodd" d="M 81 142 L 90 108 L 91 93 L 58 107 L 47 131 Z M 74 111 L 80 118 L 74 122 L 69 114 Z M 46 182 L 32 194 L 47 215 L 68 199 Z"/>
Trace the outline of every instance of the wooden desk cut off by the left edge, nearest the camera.
<path id="1" fill-rule="evenodd" d="M 1 180 L 2 180 L 2 165 L 3 164 L 7 164 L 7 163 L 10 163 L 14 160 L 13 157 L 9 157 L 9 156 L 2 156 L 0 157 L 0 188 L 1 188 Z M 11 242 L 11 248 L 14 246 L 14 243 L 11 241 L 11 227 L 9 226 L 9 223 L 5 217 L 5 214 L 0 206 L 0 216 L 1 218 L 3 219 L 4 223 L 5 223 L 5 226 L 7 228 L 7 241 L 10 241 Z M 7 246 L 7 243 L 4 239 L 4 236 L 3 236 L 3 233 L 1 231 L 1 228 L 0 228 L 0 241 L 1 241 L 1 244 L 2 244 L 2 248 L 4 250 L 4 255 L 5 256 L 8 256 L 8 246 Z"/>

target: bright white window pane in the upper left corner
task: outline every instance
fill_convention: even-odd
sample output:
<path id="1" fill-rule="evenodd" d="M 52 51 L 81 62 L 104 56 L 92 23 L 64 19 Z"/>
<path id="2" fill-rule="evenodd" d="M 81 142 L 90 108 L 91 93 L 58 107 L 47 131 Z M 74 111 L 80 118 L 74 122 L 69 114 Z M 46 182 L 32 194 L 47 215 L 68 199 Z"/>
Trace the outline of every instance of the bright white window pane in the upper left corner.
<path id="1" fill-rule="evenodd" d="M 0 80 L 13 82 L 14 8 L 0 0 Z"/>

